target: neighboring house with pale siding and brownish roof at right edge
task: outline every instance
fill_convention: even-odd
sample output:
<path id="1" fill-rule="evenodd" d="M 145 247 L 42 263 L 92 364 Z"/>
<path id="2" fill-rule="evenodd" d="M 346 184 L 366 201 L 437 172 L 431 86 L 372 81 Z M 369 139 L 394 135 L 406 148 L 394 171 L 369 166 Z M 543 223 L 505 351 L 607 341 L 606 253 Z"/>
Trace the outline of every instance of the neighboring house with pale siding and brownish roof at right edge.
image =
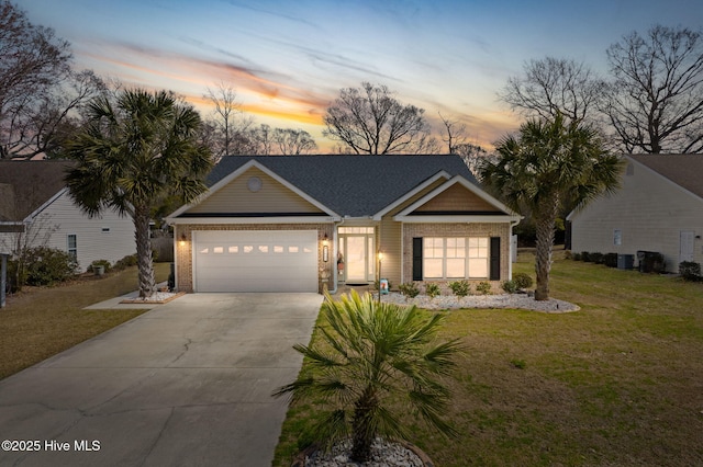
<path id="1" fill-rule="evenodd" d="M 625 156 L 622 187 L 571 213 L 571 251 L 663 254 L 666 271 L 703 262 L 703 156 Z M 635 264 L 637 265 L 637 264 Z"/>

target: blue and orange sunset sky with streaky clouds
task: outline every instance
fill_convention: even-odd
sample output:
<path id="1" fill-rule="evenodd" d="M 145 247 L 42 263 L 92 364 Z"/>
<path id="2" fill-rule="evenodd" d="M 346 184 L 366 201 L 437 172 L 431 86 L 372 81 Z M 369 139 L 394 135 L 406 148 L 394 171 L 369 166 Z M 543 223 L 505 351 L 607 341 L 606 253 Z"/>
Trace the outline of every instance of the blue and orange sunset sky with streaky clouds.
<path id="1" fill-rule="evenodd" d="M 605 73 L 605 49 L 655 23 L 703 26 L 701 0 L 15 0 L 72 45 L 78 68 L 169 89 L 203 114 L 233 86 L 256 123 L 302 128 L 321 151 L 339 89 L 386 84 L 403 103 L 467 124 L 490 146 L 520 124 L 496 93 L 525 61 L 573 58 Z"/>

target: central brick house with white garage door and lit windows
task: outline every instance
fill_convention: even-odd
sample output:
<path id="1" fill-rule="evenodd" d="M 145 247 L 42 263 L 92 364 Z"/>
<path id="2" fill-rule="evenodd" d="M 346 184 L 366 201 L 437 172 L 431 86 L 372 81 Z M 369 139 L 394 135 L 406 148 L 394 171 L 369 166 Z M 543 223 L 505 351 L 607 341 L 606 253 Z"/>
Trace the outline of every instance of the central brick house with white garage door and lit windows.
<path id="1" fill-rule="evenodd" d="M 180 291 L 511 277 L 521 217 L 458 156 L 231 156 L 208 184 L 167 218 Z"/>

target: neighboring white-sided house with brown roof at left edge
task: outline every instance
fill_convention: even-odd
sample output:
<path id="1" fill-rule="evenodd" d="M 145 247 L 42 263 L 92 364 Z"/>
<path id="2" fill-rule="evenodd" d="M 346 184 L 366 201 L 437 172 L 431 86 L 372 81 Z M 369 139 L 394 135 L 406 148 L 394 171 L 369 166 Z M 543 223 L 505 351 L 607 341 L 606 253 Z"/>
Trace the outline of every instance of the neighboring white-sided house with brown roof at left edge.
<path id="1" fill-rule="evenodd" d="M 0 161 L 0 252 L 47 246 L 72 254 L 80 270 L 134 254 L 134 225 L 107 210 L 89 218 L 64 182 L 67 161 Z"/>

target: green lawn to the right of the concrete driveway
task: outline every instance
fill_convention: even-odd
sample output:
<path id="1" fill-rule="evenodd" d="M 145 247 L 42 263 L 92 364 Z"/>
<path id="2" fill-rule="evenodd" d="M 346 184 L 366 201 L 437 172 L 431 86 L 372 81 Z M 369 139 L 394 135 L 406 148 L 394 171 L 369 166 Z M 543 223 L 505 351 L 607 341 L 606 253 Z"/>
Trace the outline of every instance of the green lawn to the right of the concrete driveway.
<path id="1" fill-rule="evenodd" d="M 703 465 L 703 284 L 563 260 L 551 295 L 580 311 L 448 311 L 466 352 L 445 440 L 410 414 L 438 466 Z M 533 275 L 521 253 L 515 272 Z M 315 335 L 313 335 L 315 339 Z M 275 466 L 308 442 L 317 407 L 290 408 Z"/>

